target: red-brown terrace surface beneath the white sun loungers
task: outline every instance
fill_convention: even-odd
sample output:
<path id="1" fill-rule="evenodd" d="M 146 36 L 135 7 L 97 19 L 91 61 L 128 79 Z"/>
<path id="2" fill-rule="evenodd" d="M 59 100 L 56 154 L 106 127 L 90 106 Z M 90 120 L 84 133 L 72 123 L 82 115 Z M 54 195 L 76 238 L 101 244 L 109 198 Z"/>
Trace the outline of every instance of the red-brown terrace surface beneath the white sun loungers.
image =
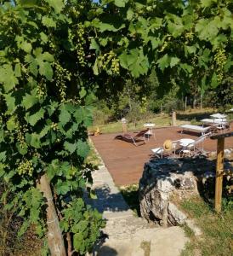
<path id="1" fill-rule="evenodd" d="M 135 147 L 133 143 L 114 139 L 120 133 L 101 134 L 97 137 L 91 137 L 91 139 L 114 182 L 117 185 L 126 185 L 139 183 L 144 164 L 151 158 L 151 148 L 161 147 L 166 139 L 196 139 L 198 137 L 198 134 L 180 134 L 179 131 L 179 127 L 157 128 L 155 129 L 156 139 L 151 137 L 148 143 L 138 147 Z M 205 141 L 205 150 L 216 151 L 216 148 L 215 140 L 208 138 Z M 233 148 L 233 137 L 225 139 L 224 148 Z"/>

